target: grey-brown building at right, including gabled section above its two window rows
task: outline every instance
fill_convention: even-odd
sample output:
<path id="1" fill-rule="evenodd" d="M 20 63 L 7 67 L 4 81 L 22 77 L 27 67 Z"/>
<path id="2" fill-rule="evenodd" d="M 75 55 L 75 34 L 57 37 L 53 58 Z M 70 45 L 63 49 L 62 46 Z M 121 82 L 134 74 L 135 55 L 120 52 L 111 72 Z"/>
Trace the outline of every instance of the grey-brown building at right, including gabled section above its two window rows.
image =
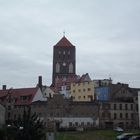
<path id="1" fill-rule="evenodd" d="M 120 126 L 124 129 L 138 128 L 137 92 L 128 84 L 111 84 L 108 100 L 99 102 L 101 128 Z"/>

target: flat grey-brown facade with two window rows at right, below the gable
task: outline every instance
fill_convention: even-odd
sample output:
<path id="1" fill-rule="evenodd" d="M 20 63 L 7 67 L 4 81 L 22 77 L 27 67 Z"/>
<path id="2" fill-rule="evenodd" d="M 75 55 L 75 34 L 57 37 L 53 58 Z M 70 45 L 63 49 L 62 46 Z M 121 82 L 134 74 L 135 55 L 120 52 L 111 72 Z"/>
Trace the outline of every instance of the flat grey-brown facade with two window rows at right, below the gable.
<path id="1" fill-rule="evenodd" d="M 99 110 L 101 128 L 138 128 L 138 111 L 135 103 L 102 102 Z"/>

